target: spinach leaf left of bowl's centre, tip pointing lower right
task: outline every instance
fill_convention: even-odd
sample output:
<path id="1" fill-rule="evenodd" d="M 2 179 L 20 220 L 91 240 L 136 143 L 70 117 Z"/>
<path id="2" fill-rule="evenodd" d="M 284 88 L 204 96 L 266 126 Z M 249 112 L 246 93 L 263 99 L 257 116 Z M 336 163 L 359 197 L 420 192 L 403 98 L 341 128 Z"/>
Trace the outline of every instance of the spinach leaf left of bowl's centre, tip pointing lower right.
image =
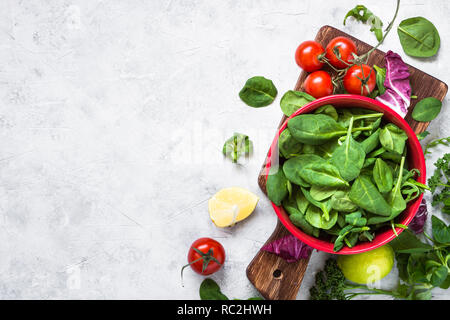
<path id="1" fill-rule="evenodd" d="M 301 178 L 310 185 L 321 187 L 348 187 L 349 184 L 339 174 L 339 170 L 332 164 L 314 161 L 300 168 Z"/>

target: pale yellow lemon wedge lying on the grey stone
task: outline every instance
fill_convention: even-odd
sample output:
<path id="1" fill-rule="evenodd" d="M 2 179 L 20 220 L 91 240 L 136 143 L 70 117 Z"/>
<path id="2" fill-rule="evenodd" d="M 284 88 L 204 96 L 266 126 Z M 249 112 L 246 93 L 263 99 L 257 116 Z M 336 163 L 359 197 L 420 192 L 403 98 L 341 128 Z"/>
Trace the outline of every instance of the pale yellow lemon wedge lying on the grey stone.
<path id="1" fill-rule="evenodd" d="M 225 188 L 208 201 L 209 216 L 220 228 L 230 227 L 247 218 L 256 207 L 259 197 L 239 188 Z"/>

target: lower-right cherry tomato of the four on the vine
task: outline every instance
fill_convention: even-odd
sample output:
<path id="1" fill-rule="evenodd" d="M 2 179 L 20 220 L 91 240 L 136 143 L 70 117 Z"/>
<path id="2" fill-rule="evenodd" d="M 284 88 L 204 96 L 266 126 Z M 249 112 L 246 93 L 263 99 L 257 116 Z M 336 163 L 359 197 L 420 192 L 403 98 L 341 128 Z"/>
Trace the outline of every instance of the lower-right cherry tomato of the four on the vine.
<path id="1" fill-rule="evenodd" d="M 361 82 L 360 79 L 366 80 Z M 363 64 L 361 66 L 354 65 L 347 70 L 347 73 L 345 74 L 343 81 L 344 81 L 344 88 L 345 90 L 347 90 L 348 93 L 361 94 L 361 86 L 362 86 L 363 88 L 362 95 L 367 96 L 375 88 L 376 84 L 375 70 L 373 70 L 366 64 Z"/>

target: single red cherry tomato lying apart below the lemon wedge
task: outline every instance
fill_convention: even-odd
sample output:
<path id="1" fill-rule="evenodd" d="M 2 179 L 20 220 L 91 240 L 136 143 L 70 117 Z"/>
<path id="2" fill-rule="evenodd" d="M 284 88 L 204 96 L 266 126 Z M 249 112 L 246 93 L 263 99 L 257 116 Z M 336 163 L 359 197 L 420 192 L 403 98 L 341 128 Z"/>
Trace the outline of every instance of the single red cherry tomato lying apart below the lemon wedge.
<path id="1" fill-rule="evenodd" d="M 201 275 L 212 274 L 225 262 L 225 250 L 214 239 L 200 238 L 192 243 L 188 252 L 188 262 L 183 269 L 190 265 L 192 270 Z"/>

